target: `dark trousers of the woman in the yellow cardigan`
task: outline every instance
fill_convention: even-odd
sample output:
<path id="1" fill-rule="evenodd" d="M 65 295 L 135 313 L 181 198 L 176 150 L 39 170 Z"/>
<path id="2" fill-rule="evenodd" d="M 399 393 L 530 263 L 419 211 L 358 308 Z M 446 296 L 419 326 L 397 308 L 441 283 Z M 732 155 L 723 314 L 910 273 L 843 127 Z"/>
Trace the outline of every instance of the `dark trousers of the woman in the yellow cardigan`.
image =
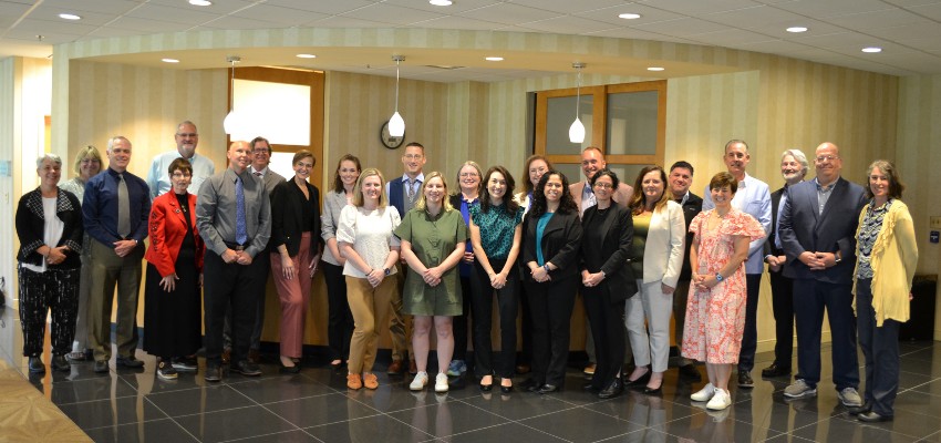
<path id="1" fill-rule="evenodd" d="M 900 322 L 886 319 L 876 326 L 872 309 L 872 279 L 856 282 L 856 326 L 859 348 L 866 358 L 866 403 L 879 415 L 895 415 L 892 406 L 899 393 L 899 327 Z"/>

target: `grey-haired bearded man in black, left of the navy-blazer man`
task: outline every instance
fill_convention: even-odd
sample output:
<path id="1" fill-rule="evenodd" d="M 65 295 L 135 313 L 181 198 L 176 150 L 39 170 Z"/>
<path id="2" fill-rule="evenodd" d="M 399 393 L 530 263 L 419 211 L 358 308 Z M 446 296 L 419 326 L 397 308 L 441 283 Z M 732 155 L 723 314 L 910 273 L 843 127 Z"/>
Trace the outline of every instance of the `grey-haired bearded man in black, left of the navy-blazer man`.
<path id="1" fill-rule="evenodd" d="M 780 155 L 784 187 L 772 193 L 772 226 L 765 243 L 765 262 L 772 281 L 772 309 L 775 321 L 774 362 L 762 370 L 762 377 L 790 375 L 790 354 L 794 352 L 794 281 L 784 276 L 787 257 L 778 237 L 778 217 L 787 200 L 787 188 L 800 182 L 808 169 L 807 157 L 800 150 L 787 150 Z"/>

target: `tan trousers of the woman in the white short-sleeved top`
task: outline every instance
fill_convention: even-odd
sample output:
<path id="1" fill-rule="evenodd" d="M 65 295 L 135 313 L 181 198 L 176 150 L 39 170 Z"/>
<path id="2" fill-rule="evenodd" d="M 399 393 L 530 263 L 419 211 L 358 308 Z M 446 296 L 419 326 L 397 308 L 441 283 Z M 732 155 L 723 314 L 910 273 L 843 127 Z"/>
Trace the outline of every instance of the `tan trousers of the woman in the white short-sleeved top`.
<path id="1" fill-rule="evenodd" d="M 380 328 L 389 324 L 391 301 L 399 291 L 395 278 L 386 278 L 373 288 L 365 278 L 347 276 L 347 301 L 353 312 L 353 338 L 350 340 L 350 373 L 371 372 L 379 348 Z"/>

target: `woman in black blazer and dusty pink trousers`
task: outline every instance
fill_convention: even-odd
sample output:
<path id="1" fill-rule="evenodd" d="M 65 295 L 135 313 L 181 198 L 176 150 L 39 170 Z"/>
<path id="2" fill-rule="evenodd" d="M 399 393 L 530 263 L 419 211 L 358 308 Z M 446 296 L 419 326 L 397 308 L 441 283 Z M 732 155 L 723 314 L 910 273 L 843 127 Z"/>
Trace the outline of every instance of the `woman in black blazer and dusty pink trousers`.
<path id="1" fill-rule="evenodd" d="M 294 177 L 271 193 L 271 275 L 281 300 L 281 372 L 297 373 L 310 286 L 320 261 L 320 192 L 308 183 L 317 161 L 293 157 Z"/>

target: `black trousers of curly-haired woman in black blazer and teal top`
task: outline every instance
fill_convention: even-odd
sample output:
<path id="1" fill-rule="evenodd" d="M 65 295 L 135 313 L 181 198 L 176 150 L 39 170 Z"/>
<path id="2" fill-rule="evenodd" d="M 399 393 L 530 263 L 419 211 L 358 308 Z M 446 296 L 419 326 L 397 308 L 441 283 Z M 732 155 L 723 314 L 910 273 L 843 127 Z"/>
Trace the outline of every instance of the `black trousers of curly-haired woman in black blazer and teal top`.
<path id="1" fill-rule="evenodd" d="M 561 385 L 566 379 L 578 284 L 576 276 L 542 284 L 527 277 L 526 296 L 532 315 L 532 379 L 537 382 Z"/>

